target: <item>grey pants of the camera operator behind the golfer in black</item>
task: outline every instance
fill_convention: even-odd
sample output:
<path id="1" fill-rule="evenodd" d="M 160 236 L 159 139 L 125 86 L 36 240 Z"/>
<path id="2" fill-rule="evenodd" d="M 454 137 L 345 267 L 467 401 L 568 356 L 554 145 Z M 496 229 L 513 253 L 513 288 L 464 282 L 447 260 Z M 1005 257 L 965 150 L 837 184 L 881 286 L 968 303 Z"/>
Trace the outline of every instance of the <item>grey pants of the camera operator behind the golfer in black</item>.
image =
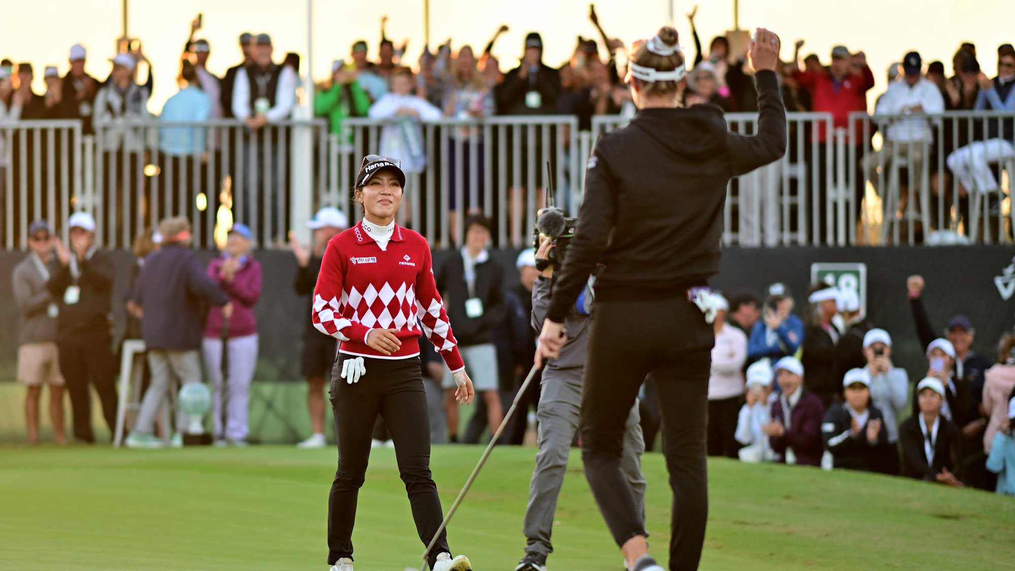
<path id="1" fill-rule="evenodd" d="M 543 556 L 553 552 L 550 532 L 557 497 L 567 469 L 567 455 L 578 431 L 582 404 L 582 369 L 543 371 L 542 394 L 536 417 L 539 419 L 539 453 L 536 469 L 529 487 L 529 505 L 525 509 L 523 532 L 527 537 L 525 551 Z M 641 473 L 641 454 L 645 440 L 641 437 L 637 402 L 627 415 L 624 433 L 623 471 L 645 521 L 645 475 Z"/>

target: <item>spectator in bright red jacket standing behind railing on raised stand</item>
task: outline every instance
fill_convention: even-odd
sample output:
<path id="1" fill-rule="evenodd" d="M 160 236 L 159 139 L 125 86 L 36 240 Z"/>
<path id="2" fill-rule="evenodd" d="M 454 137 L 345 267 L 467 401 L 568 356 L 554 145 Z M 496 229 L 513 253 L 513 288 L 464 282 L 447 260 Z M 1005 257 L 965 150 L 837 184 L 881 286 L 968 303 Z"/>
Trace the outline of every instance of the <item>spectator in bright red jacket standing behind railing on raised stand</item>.
<path id="1" fill-rule="evenodd" d="M 850 125 L 850 113 L 855 111 L 867 111 L 867 91 L 874 86 L 874 74 L 867 66 L 867 56 L 863 52 L 850 54 L 845 46 L 836 46 L 831 51 L 831 65 L 827 70 L 822 71 L 800 71 L 796 62 L 791 64 L 793 78 L 806 88 L 811 96 L 811 110 L 815 113 L 830 113 L 832 115 L 833 127 L 835 129 L 849 129 L 847 144 L 857 147 L 857 156 L 863 156 L 863 148 L 866 141 L 863 137 L 863 123 L 854 121 Z M 827 169 L 834 169 L 834 165 L 829 166 L 828 148 L 834 143 L 834 133 L 829 133 L 824 123 L 818 123 L 818 218 L 811 221 L 810 235 L 812 244 L 823 244 L 831 242 L 827 240 L 829 212 L 827 210 L 825 197 L 827 196 Z M 811 148 L 808 145 L 808 149 Z M 847 153 L 849 154 L 849 153 Z M 810 157 L 808 163 L 814 168 L 814 158 Z M 834 161 L 834 156 L 832 157 Z M 832 173 L 835 173 L 832 170 Z M 861 202 L 864 197 L 863 172 L 857 170 L 853 177 L 853 187 L 856 192 L 856 202 L 854 210 L 857 219 L 860 218 Z M 808 208 L 811 208 L 808 205 Z M 813 211 L 813 210 L 811 210 Z M 849 214 L 847 214 L 849 216 Z M 848 229 L 849 230 L 849 229 Z M 833 235 L 834 236 L 834 235 Z"/>

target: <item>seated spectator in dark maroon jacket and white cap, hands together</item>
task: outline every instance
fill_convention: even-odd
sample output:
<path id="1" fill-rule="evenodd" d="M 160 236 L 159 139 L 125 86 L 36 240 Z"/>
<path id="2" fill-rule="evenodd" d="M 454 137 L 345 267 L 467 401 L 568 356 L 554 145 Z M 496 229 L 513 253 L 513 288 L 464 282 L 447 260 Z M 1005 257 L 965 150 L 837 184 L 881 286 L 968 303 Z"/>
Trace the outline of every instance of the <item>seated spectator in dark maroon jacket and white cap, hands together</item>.
<path id="1" fill-rule="evenodd" d="M 821 419 L 824 406 L 804 389 L 804 366 L 796 358 L 775 363 L 775 381 L 783 393 L 771 404 L 771 422 L 763 427 L 772 451 L 787 464 L 821 465 Z"/>

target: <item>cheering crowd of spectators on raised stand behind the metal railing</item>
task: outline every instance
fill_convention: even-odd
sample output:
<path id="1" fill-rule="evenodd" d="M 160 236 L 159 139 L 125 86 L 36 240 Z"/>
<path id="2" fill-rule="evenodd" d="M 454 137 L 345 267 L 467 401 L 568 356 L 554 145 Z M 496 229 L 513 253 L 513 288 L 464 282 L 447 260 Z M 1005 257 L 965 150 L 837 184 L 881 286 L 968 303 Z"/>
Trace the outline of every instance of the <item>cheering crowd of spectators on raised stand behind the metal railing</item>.
<path id="1" fill-rule="evenodd" d="M 705 50 L 694 23 L 696 12 L 697 7 L 688 14 L 695 53 L 693 60 L 687 54 L 689 73 L 682 103 L 686 106 L 718 105 L 727 112 L 756 111 L 753 78 L 749 66 L 745 65 L 748 33 L 735 30 L 718 36 Z M 521 47 L 521 63 L 515 69 L 503 69 L 492 54 L 494 43 L 506 26 L 501 26 L 478 55 L 471 46 L 453 46 L 448 40 L 433 50 L 425 46 L 418 60 L 410 62 L 405 58 L 406 43 L 395 46 L 386 36 L 387 18 L 383 18 L 378 59 L 369 59 L 370 47 L 366 41 L 356 41 L 347 58 L 332 63 L 331 77 L 316 86 L 314 101 L 308 104 L 314 115 L 327 119 L 331 132 L 345 142 L 352 140 L 351 133 L 342 128 L 347 118 L 389 121 L 384 128 L 381 150 L 401 157 L 407 172 L 414 173 L 423 172 L 427 165 L 420 122 L 441 117 L 570 115 L 578 118 L 580 129 L 588 130 L 594 116 L 630 117 L 635 109 L 623 79 L 626 71 L 621 53 L 625 49 L 624 42 L 603 29 L 594 8 L 589 17 L 599 33 L 598 40 L 579 37 L 566 61 L 546 62 L 541 36 L 531 33 Z M 240 36 L 242 60 L 218 76 L 206 67 L 212 47 L 206 40 L 195 39 L 201 25 L 200 17 L 192 22 L 179 64 L 181 90 L 164 104 L 158 114 L 159 120 L 242 120 L 258 148 L 254 150 L 257 164 L 268 162 L 271 168 L 267 172 L 279 172 L 279 155 L 284 155 L 284 149 L 278 147 L 275 137 L 263 131 L 266 126 L 291 118 L 299 82 L 298 55 L 286 54 L 281 61 L 276 61 L 267 34 L 244 33 Z M 1015 49 L 1011 45 L 1005 44 L 998 49 L 999 71 L 993 79 L 980 70 L 979 59 L 985 56 L 977 53 L 971 43 L 963 43 L 956 51 L 951 61 L 951 77 L 946 77 L 943 62 L 925 64 L 919 52 L 900 53 L 900 61 L 889 68 L 888 88 L 877 99 L 873 110 L 868 108 L 867 96 L 874 86 L 874 73 L 862 50 L 836 46 L 823 61 L 817 54 L 804 56 L 801 52 L 804 45 L 803 40 L 796 42 L 792 58 L 780 65 L 787 110 L 831 114 L 832 126 L 845 129 L 845 141 L 854 147 L 841 154 L 828 152 L 829 145 L 834 144 L 833 133 L 820 122 L 816 131 L 805 133 L 804 160 L 809 168 L 817 171 L 812 180 L 817 182 L 814 197 L 818 215 L 809 226 L 811 242 L 823 242 L 827 236 L 827 183 L 833 178 L 830 174 L 838 173 L 835 162 L 839 156 L 851 162 L 849 168 L 855 170 L 851 175 L 853 180 L 869 180 L 883 200 L 888 189 L 880 186 L 887 179 L 880 175 L 889 173 L 887 169 L 894 169 L 893 165 L 897 164 L 903 191 L 897 200 L 892 200 L 899 211 L 905 208 L 908 196 L 917 190 L 930 192 L 933 196 L 943 193 L 945 200 L 950 202 L 954 185 L 958 190 L 957 212 L 954 215 L 948 212 L 947 219 L 939 219 L 939 209 L 930 208 L 930 228 L 920 229 L 925 236 L 933 230 L 957 230 L 959 224 L 965 225 L 967 233 L 971 232 L 970 216 L 978 204 L 974 198 L 980 195 L 988 197 L 985 211 L 1001 211 L 1001 200 L 996 194 L 1000 189 L 1000 171 L 1015 158 L 1015 120 L 955 119 L 941 124 L 922 115 L 962 110 L 1015 111 Z M 85 49 L 73 46 L 70 70 L 62 78 L 55 66 L 47 66 L 45 94 L 31 90 L 31 63 L 15 66 L 10 60 L 4 60 L 0 64 L 0 121 L 80 119 L 83 132 L 88 134 L 93 126 L 123 126 L 132 119 L 154 116 L 148 110 L 151 64 L 138 47 L 112 58 L 113 69 L 101 82 L 84 72 L 85 58 Z M 143 83 L 136 79 L 141 65 L 147 67 L 147 79 Z M 867 111 L 881 117 L 870 123 L 849 120 L 851 113 Z M 875 150 L 870 137 L 877 131 L 881 132 L 882 142 Z M 131 180 L 137 170 L 150 162 L 151 157 L 144 154 L 143 135 L 142 131 L 126 127 L 104 129 L 107 139 L 103 146 L 105 180 L 117 187 L 116 192 L 120 194 L 115 196 L 118 198 L 125 192 L 122 188 L 126 182 L 121 179 Z M 194 158 L 209 161 L 208 151 L 215 148 L 216 138 L 213 134 L 206 136 L 201 129 L 163 127 L 159 149 L 165 155 L 163 161 L 172 163 L 174 168 L 193 169 Z M 463 130 L 456 133 L 456 138 L 465 139 L 464 156 L 469 156 L 474 147 L 479 150 L 477 167 L 480 170 L 496 168 L 482 164 L 484 141 L 476 131 Z M 2 147 L 6 142 L 0 139 L 0 156 L 4 156 Z M 268 150 L 261 150 L 262 147 Z M 523 144 L 523 154 L 538 154 L 538 150 L 528 149 Z M 939 155 L 945 158 L 943 163 Z M 210 160 L 215 160 L 214 153 Z M 455 156 L 451 161 L 454 163 Z M 249 166 L 249 153 L 244 153 L 242 162 Z M 473 168 L 470 161 L 466 163 L 469 165 L 463 168 Z M 922 176 L 925 166 L 929 173 L 926 179 Z M 5 167 L 0 163 L 0 169 Z M 257 180 L 260 175 L 256 171 L 252 177 L 255 180 L 248 183 L 257 197 L 255 200 L 265 194 L 269 196 L 265 200 L 267 203 L 275 204 L 280 198 L 285 200 L 286 189 L 279 190 L 278 185 Z M 537 174 L 539 187 L 543 186 L 541 177 L 540 171 Z M 513 220 L 522 215 L 518 211 L 520 207 L 514 206 L 521 187 L 528 183 L 524 173 L 522 178 L 524 182 L 511 184 L 509 200 L 513 205 Z M 463 180 L 470 180 L 468 171 Z M 447 184 L 451 193 L 448 203 L 442 207 L 448 211 L 455 213 L 464 206 L 465 211 L 471 212 L 482 207 L 469 200 L 464 205 L 457 204 L 455 180 Z M 859 223 L 863 216 L 866 185 L 853 184 L 853 214 Z M 542 191 L 538 192 L 537 203 L 542 205 Z M 749 193 L 751 189 L 745 187 L 742 192 Z M 465 194 L 468 197 L 469 193 Z M 242 212 L 239 217 L 253 223 L 254 212 L 247 204 L 249 201 L 238 200 Z M 269 232 L 274 233 L 274 240 L 280 240 L 284 235 L 284 223 L 273 213 L 268 215 L 272 216 Z M 985 232 L 988 230 L 987 225 L 979 226 Z M 458 240 L 457 229 L 452 229 L 452 235 Z"/>

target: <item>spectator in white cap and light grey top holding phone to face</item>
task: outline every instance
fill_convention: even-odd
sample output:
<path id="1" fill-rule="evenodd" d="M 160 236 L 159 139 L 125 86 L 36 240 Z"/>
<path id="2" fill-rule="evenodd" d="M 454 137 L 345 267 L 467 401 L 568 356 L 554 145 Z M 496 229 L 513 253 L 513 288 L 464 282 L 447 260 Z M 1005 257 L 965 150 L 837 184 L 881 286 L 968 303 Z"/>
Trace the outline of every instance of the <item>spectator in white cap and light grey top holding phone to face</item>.
<path id="1" fill-rule="evenodd" d="M 909 376 L 904 369 L 892 365 L 891 335 L 884 329 L 871 329 L 864 335 L 864 357 L 867 374 L 871 378 L 871 400 L 884 418 L 885 433 L 890 449 L 885 451 L 877 469 L 884 473 L 898 473 L 898 413 L 905 406 L 909 390 Z"/>

